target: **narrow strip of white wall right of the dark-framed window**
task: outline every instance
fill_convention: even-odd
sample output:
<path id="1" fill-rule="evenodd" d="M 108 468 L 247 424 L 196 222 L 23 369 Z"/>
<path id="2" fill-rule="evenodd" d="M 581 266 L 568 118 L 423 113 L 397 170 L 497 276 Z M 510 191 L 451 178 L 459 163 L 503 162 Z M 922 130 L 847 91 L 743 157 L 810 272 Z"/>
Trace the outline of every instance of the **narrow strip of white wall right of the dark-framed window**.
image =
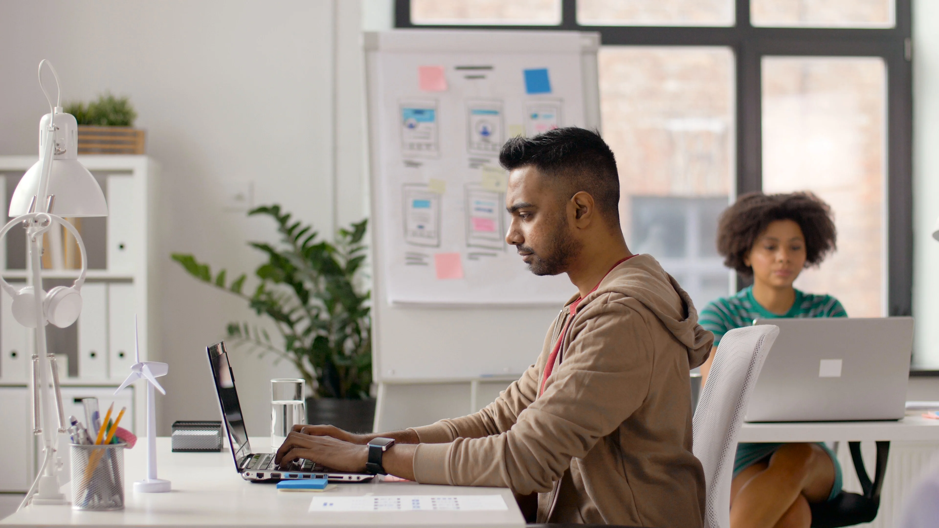
<path id="1" fill-rule="evenodd" d="M 939 2 L 913 2 L 915 365 L 939 370 Z M 939 380 L 936 381 L 939 385 Z"/>

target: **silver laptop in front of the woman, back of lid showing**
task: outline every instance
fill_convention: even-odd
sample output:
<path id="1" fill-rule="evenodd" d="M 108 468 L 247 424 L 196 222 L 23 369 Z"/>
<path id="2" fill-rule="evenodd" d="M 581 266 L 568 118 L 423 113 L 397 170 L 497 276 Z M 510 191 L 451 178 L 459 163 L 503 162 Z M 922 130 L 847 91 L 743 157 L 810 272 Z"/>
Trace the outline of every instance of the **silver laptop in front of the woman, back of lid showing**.
<path id="1" fill-rule="evenodd" d="M 913 318 L 770 318 L 779 336 L 750 396 L 747 422 L 899 420 Z"/>

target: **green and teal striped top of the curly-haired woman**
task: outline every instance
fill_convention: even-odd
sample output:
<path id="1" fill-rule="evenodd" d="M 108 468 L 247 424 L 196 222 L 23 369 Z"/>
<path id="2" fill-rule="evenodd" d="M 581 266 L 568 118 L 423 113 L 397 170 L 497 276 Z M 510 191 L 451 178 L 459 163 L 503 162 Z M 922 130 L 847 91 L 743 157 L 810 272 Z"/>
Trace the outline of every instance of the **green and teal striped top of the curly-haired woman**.
<path id="1" fill-rule="evenodd" d="M 785 315 L 763 308 L 753 298 L 753 287 L 745 287 L 731 297 L 721 297 L 701 310 L 698 322 L 714 333 L 714 344 L 734 328 L 753 324 L 759 318 L 846 318 L 844 307 L 831 295 L 814 295 L 795 290 L 795 303 Z"/>

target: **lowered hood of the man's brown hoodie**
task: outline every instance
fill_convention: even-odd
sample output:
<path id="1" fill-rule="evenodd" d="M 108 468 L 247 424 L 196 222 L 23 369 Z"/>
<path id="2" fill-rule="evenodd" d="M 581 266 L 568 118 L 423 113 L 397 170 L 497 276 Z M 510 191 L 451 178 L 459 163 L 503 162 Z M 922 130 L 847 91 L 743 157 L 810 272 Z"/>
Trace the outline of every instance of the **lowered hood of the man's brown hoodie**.
<path id="1" fill-rule="evenodd" d="M 653 256 L 633 256 L 610 270 L 597 288 L 577 306 L 577 311 L 608 292 L 632 297 L 654 313 L 685 346 L 691 368 L 700 366 L 707 359 L 714 344 L 714 334 L 698 324 L 698 310 L 691 298 Z"/>

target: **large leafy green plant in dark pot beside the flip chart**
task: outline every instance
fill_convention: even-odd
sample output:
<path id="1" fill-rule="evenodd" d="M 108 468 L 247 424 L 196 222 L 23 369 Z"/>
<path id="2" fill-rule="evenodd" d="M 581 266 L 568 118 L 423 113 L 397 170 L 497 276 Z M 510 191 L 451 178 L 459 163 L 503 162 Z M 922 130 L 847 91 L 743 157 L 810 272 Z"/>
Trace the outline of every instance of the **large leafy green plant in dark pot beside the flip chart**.
<path id="1" fill-rule="evenodd" d="M 360 276 L 367 220 L 339 229 L 330 242 L 318 240 L 313 225 L 291 221 L 280 206 L 248 214 L 270 216 L 281 235 L 275 245 L 250 242 L 267 256 L 254 270 L 259 281 L 254 293 L 243 291 L 247 274 L 229 281 L 225 270 L 213 276 L 208 264 L 192 255 L 175 253 L 172 258 L 193 277 L 245 300 L 274 323 L 282 342 L 245 322 L 228 324 L 226 342 L 296 366 L 312 388 L 306 401 L 308 423 L 371 431 L 371 292 L 361 286 Z"/>

